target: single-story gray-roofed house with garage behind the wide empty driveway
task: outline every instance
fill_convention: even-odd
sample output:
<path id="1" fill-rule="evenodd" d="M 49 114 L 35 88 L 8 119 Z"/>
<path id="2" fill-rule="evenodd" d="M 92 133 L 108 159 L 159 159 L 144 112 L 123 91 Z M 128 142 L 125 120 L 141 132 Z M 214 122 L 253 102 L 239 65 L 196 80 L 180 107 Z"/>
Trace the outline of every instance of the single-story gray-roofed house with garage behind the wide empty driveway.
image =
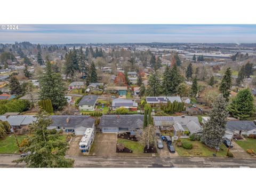
<path id="1" fill-rule="evenodd" d="M 102 133 L 125 133 L 137 135 L 143 127 L 143 115 L 103 115 L 99 127 Z"/>

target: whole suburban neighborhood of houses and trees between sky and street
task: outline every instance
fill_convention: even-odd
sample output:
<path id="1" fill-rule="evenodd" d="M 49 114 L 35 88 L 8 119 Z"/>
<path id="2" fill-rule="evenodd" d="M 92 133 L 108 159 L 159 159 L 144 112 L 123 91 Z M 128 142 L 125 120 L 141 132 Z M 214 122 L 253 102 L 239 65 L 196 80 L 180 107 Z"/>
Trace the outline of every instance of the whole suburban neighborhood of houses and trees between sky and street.
<path id="1" fill-rule="evenodd" d="M 254 161 L 255 69 L 250 43 L 1 43 L 0 154 Z"/>

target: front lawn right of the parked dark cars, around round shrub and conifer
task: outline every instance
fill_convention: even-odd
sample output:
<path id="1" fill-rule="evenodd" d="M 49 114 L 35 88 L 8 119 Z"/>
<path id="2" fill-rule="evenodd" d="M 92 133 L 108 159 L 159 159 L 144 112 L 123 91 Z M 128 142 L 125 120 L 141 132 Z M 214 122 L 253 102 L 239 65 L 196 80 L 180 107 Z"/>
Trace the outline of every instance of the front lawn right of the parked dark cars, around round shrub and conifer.
<path id="1" fill-rule="evenodd" d="M 211 149 L 201 143 L 200 141 L 190 141 L 189 139 L 181 139 L 182 142 L 190 142 L 192 143 L 192 149 L 184 149 L 183 147 L 177 147 L 176 145 L 175 150 L 181 157 L 213 157 L 212 154 L 215 153 L 214 149 Z M 217 153 L 217 157 L 226 157 L 227 154 L 227 147 L 223 144 L 221 147 L 223 150 L 219 150 Z"/>

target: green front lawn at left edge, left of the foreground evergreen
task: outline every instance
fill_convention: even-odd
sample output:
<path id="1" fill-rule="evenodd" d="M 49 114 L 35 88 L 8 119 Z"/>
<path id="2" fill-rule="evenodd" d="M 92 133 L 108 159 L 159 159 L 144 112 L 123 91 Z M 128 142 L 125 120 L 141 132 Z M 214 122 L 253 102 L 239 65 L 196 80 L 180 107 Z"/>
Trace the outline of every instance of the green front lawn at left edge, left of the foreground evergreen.
<path id="1" fill-rule="evenodd" d="M 17 135 L 19 144 L 24 138 L 26 138 L 25 135 Z M 13 153 L 19 153 L 19 149 L 18 149 L 17 142 L 15 140 L 14 135 L 7 136 L 5 138 L 0 139 L 0 154 L 13 154 Z"/>

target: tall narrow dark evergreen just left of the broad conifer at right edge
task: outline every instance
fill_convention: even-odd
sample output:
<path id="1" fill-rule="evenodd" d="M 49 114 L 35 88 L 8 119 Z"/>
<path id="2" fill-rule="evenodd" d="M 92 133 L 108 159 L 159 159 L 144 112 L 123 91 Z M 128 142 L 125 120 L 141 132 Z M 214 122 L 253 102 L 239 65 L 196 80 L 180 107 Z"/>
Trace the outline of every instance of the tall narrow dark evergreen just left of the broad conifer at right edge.
<path id="1" fill-rule="evenodd" d="M 221 81 L 221 85 L 220 85 L 220 92 L 222 93 L 223 97 L 226 98 L 227 101 L 228 101 L 230 89 L 232 86 L 231 74 L 232 74 L 232 72 L 229 67 L 229 68 L 227 68 L 226 73 L 224 74 L 222 81 Z"/>

